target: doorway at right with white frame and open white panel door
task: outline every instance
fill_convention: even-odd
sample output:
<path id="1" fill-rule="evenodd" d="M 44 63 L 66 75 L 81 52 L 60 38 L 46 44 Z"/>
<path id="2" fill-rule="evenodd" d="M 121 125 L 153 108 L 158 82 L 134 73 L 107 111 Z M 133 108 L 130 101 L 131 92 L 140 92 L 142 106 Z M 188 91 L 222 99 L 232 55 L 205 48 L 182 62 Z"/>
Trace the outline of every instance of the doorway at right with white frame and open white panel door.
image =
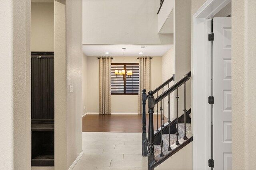
<path id="1" fill-rule="evenodd" d="M 232 166 L 231 16 L 231 0 L 208 0 L 193 17 L 194 169 Z"/>

